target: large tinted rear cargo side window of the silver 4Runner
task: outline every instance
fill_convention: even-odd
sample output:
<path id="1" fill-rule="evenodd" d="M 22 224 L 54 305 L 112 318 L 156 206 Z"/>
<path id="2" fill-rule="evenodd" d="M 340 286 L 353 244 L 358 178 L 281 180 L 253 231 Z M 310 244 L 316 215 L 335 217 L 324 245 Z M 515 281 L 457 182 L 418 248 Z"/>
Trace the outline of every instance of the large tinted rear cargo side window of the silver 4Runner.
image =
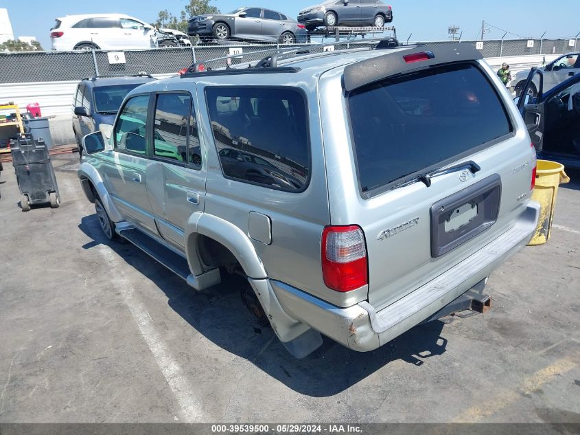
<path id="1" fill-rule="evenodd" d="M 310 145 L 302 93 L 208 87 L 206 97 L 226 177 L 291 192 L 306 188 Z"/>

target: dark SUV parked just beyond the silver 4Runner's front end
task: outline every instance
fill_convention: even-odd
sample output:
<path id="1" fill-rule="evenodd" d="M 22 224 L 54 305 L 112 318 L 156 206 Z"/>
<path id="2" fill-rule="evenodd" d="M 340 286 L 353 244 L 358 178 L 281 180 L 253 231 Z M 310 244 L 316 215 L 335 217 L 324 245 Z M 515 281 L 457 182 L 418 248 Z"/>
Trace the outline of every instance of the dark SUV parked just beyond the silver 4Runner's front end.
<path id="1" fill-rule="evenodd" d="M 129 91 L 143 83 L 155 80 L 149 74 L 135 76 L 97 76 L 80 80 L 73 101 L 73 131 L 82 156 L 82 138 L 89 133 L 103 130 L 107 135 L 115 116 Z"/>

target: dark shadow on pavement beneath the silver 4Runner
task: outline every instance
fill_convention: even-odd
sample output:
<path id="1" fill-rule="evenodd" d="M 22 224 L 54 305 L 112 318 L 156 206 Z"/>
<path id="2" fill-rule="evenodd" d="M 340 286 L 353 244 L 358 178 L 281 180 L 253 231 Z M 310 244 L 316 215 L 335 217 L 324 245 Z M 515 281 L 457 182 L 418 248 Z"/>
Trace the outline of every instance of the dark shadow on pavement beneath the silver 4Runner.
<path id="1" fill-rule="evenodd" d="M 197 292 L 137 247 L 107 241 L 95 214 L 82 218 L 79 228 L 93 239 L 84 249 L 100 244 L 113 249 L 139 274 L 152 280 L 167 295 L 169 306 L 196 331 L 301 394 L 332 396 L 391 361 L 402 359 L 418 367 L 423 359 L 445 353 L 447 340 L 441 337 L 444 323 L 438 320 L 416 326 L 369 353 L 349 350 L 324 337 L 321 348 L 304 359 L 294 359 L 272 329 L 260 326 L 242 304 L 240 288 L 246 285 L 243 278 L 222 274 L 220 285 Z"/>

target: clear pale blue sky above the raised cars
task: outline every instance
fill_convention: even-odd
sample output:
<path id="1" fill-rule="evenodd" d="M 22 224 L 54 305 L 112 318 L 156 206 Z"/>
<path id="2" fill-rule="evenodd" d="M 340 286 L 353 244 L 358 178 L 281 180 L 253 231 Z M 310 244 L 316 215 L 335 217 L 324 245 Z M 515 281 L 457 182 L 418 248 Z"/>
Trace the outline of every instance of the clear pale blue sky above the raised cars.
<path id="1" fill-rule="evenodd" d="M 245 0 L 244 0 L 245 1 Z M 211 0 L 221 12 L 241 6 L 262 6 L 296 17 L 305 6 L 318 0 Z M 388 3 L 392 1 L 392 3 Z M 448 27 L 459 25 L 463 39 L 480 37 L 481 22 L 489 23 L 485 39 L 520 36 L 540 38 L 574 38 L 580 32 L 580 0 L 385 0 L 393 6 L 397 38 L 401 41 L 441 41 L 448 39 Z M 67 14 L 102 12 L 124 13 L 152 23 L 161 9 L 179 14 L 185 0 L 0 0 L 0 8 L 7 8 L 14 36 L 35 36 L 45 49 L 50 49 L 50 28 L 54 19 Z M 479 36 L 478 36 L 479 35 Z"/>

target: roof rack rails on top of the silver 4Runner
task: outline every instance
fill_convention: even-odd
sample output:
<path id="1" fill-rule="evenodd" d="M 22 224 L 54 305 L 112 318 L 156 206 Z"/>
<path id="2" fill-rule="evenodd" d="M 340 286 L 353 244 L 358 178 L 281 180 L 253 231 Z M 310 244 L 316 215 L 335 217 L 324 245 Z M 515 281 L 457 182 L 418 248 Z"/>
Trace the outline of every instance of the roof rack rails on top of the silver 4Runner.
<path id="1" fill-rule="evenodd" d="M 312 54 L 313 56 L 329 56 L 338 53 L 344 53 L 347 50 L 359 50 L 360 47 L 352 47 L 348 49 L 343 49 L 338 52 L 318 52 L 312 53 L 311 49 L 319 49 L 323 47 L 330 47 L 337 44 L 347 44 L 347 45 L 360 45 L 360 44 L 372 44 L 376 43 L 375 47 L 369 49 L 392 49 L 395 47 L 399 47 L 399 41 L 396 38 L 373 38 L 373 39 L 358 39 L 358 40 L 349 40 L 349 41 L 334 41 L 332 43 L 324 43 L 324 44 L 313 44 L 313 45 L 303 45 L 301 47 L 288 47 L 288 48 L 277 48 L 277 49 L 268 49 L 268 50 L 259 50 L 256 52 L 248 52 L 243 54 L 230 54 L 229 56 L 222 56 L 218 58 L 209 59 L 205 62 L 194 63 L 191 67 L 187 68 L 185 73 L 181 74 L 181 78 L 190 78 L 190 77 L 198 77 L 198 76 L 205 76 L 208 73 L 211 75 L 224 75 L 224 74 L 254 74 L 257 72 L 268 72 L 268 73 L 281 73 L 281 72 L 298 72 L 300 71 L 299 68 L 296 67 L 279 67 L 277 65 L 279 60 L 289 59 L 294 56 L 301 56 L 303 54 Z M 413 47 L 413 45 L 408 45 L 408 47 Z M 272 51 L 274 53 L 272 53 Z M 243 56 L 251 56 L 256 54 L 268 54 L 261 60 L 251 60 L 249 62 L 244 62 L 242 64 L 235 65 L 235 67 L 231 67 L 230 62 L 233 58 L 242 58 Z M 221 67 L 220 69 L 211 69 L 211 67 L 206 67 L 207 63 L 217 62 L 219 60 L 225 60 L 226 66 Z M 228 62 L 229 61 L 229 62 Z M 255 65 L 253 65 L 255 63 Z M 256 69 L 260 69 L 261 71 L 256 71 Z M 243 72 L 242 72 L 243 71 Z"/>

